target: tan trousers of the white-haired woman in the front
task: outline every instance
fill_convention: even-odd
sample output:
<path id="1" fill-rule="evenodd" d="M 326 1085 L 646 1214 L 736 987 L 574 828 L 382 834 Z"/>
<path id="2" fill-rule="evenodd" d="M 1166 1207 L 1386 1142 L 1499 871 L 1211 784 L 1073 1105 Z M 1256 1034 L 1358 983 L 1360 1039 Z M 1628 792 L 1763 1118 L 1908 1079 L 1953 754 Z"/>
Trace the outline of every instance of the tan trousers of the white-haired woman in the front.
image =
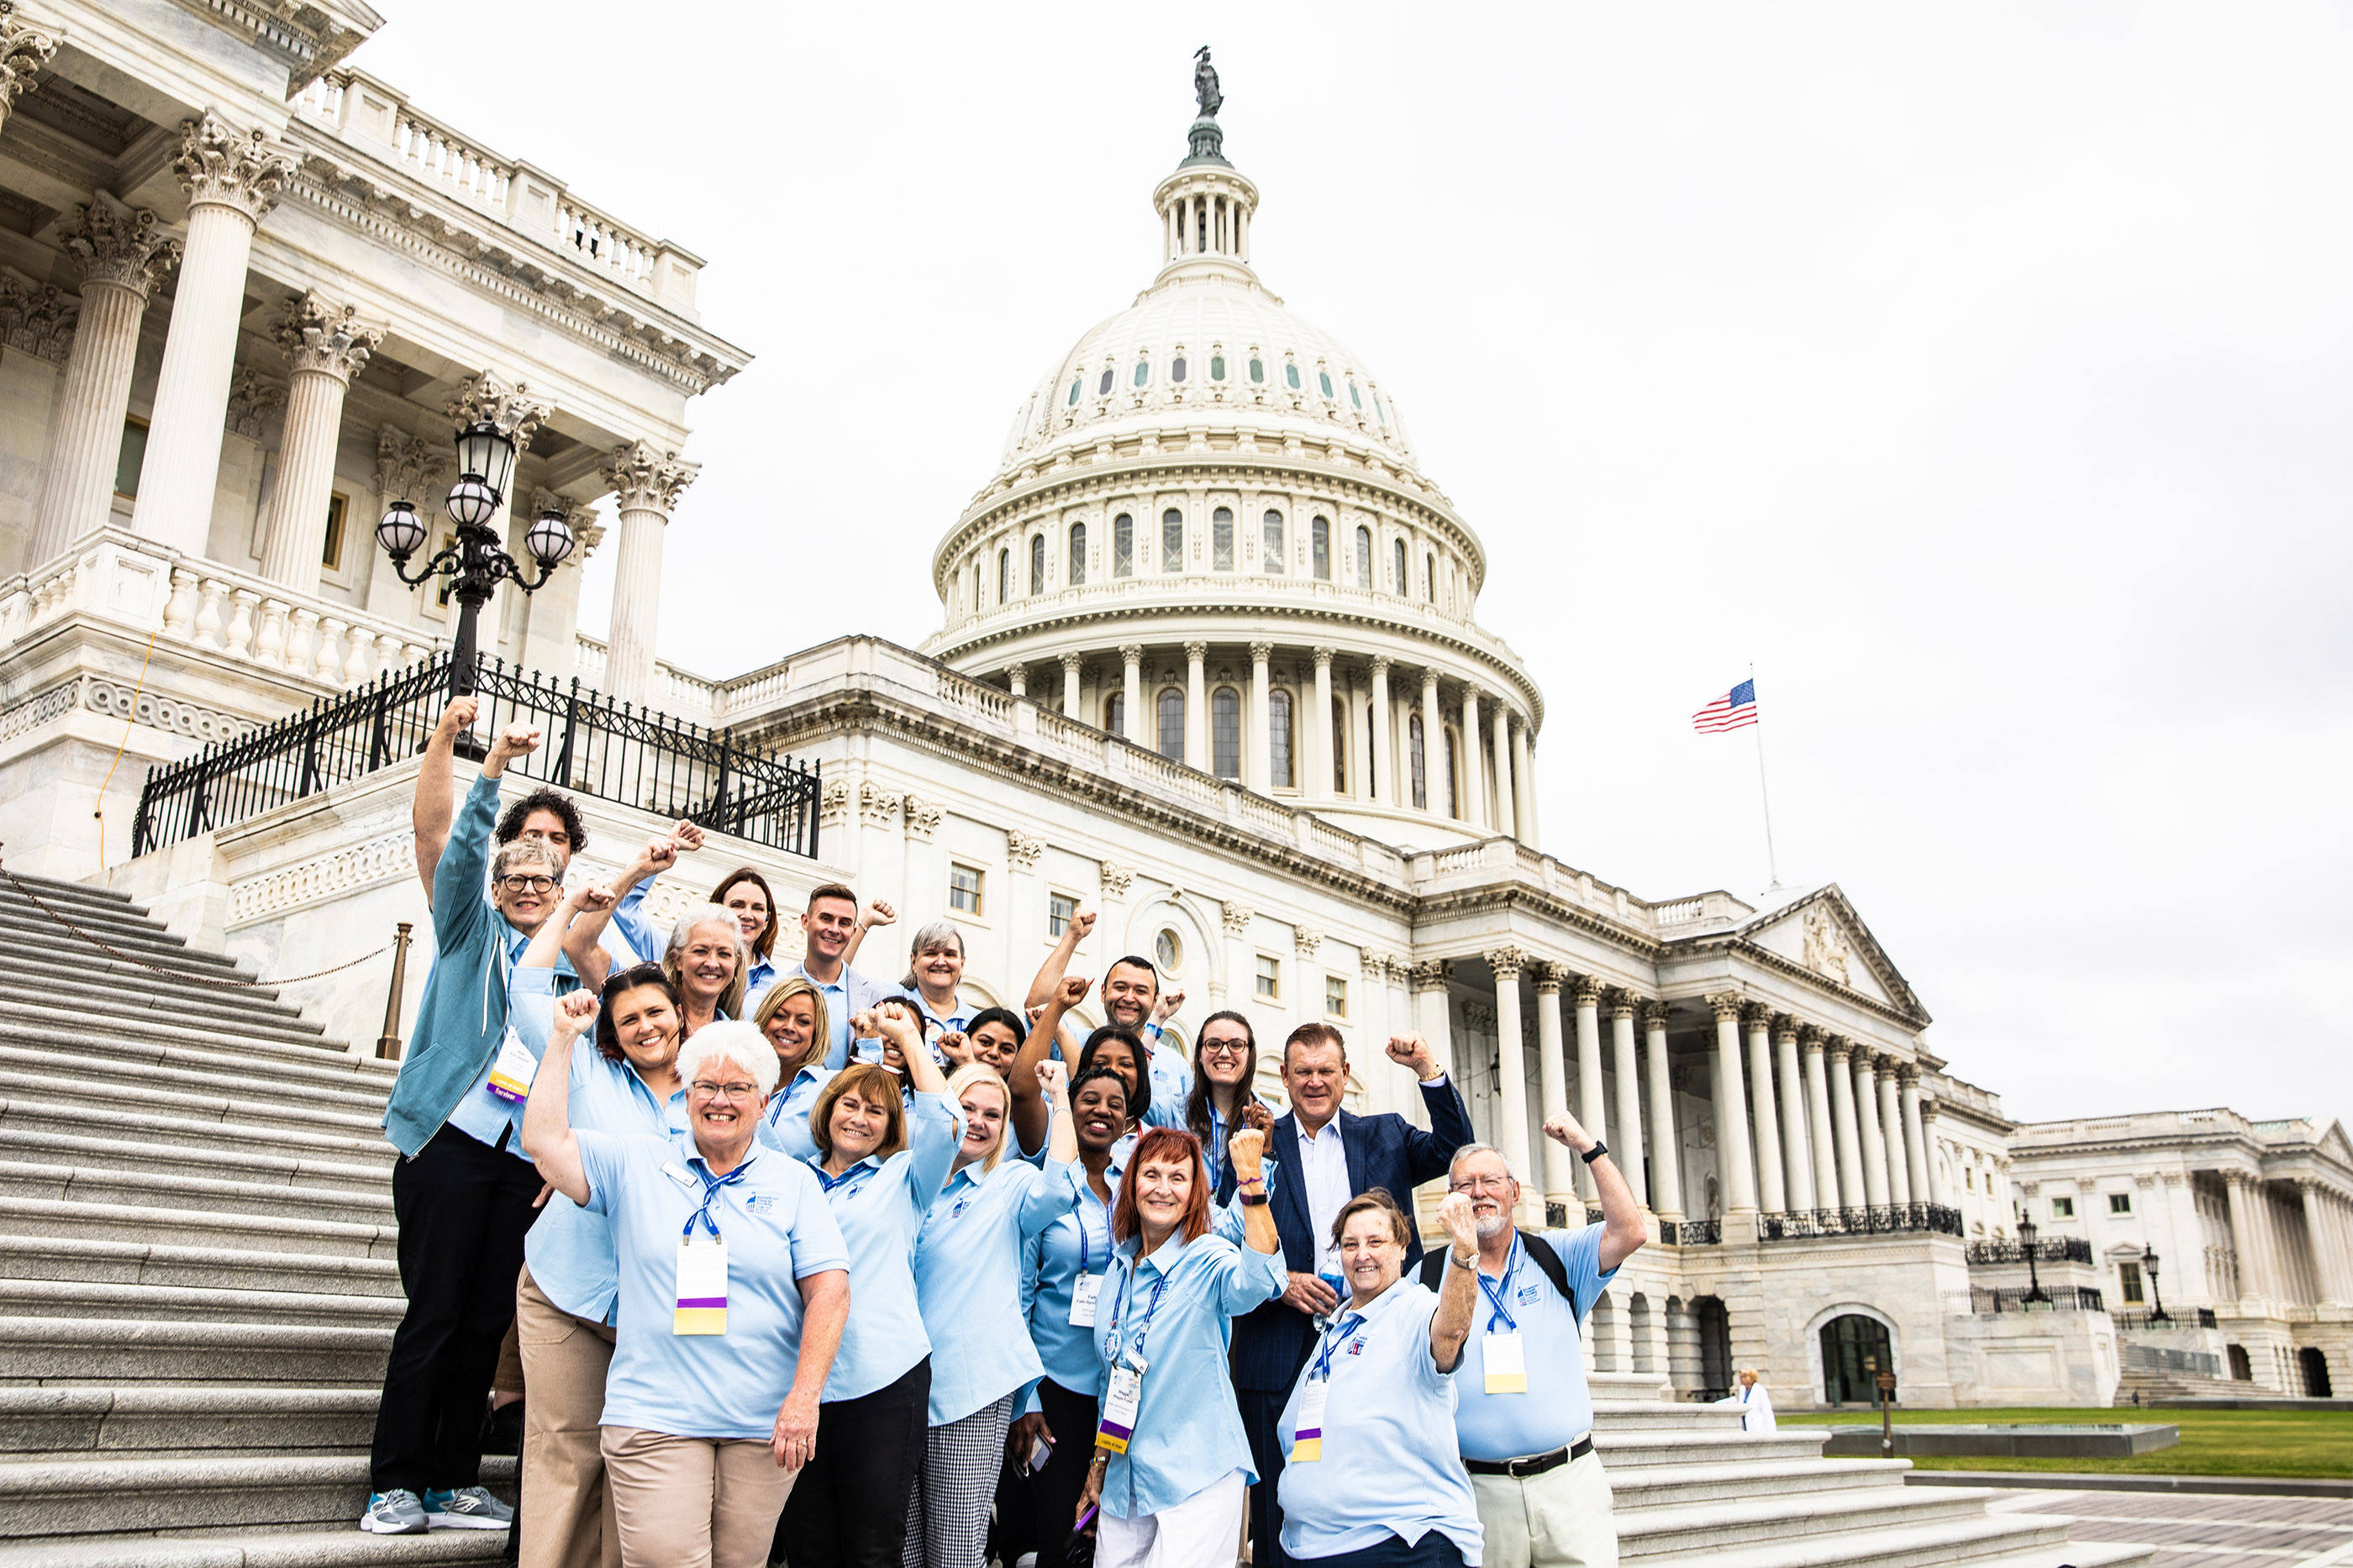
<path id="1" fill-rule="evenodd" d="M 798 1476 L 767 1439 L 605 1427 L 621 1568 L 767 1568 Z"/>

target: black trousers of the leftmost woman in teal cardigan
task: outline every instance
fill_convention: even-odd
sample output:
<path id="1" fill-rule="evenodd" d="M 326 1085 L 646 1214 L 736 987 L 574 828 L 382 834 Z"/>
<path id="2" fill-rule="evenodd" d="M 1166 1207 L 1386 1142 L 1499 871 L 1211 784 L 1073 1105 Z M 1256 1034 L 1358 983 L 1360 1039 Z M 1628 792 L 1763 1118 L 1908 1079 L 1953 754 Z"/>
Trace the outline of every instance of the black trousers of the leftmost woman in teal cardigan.
<path id="1" fill-rule="evenodd" d="M 482 1479 L 485 1398 L 499 1342 L 515 1321 L 515 1276 L 536 1196 L 539 1172 L 527 1161 L 456 1128 L 442 1128 L 416 1158 L 393 1168 L 409 1307 L 384 1368 L 369 1490 L 421 1497 Z"/>

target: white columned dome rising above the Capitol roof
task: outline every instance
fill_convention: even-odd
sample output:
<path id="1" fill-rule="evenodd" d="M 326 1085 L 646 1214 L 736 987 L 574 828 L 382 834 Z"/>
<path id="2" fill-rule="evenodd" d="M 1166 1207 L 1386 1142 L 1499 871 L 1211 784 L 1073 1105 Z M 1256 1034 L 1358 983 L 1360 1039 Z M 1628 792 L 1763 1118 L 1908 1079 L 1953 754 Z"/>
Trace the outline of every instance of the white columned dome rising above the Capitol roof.
<path id="1" fill-rule="evenodd" d="M 1151 285 L 939 542 L 925 652 L 1391 843 L 1534 841 L 1544 697 L 1475 622 L 1485 549 L 1372 367 L 1252 271 L 1257 210 L 1205 113 Z"/>

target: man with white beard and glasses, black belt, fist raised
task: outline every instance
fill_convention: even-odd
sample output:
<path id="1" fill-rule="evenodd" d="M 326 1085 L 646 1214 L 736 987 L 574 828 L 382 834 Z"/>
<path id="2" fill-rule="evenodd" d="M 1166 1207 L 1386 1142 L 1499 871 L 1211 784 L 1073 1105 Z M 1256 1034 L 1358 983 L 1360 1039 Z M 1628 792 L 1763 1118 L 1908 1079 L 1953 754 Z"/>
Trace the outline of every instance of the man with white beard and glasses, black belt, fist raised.
<path id="1" fill-rule="evenodd" d="M 1487 1537 L 1485 1568 L 1617 1568 L 1609 1476 L 1593 1453 L 1593 1391 L 1577 1328 L 1642 1245 L 1642 1208 L 1609 1149 L 1574 1116 L 1553 1114 L 1544 1135 L 1591 1165 L 1600 1224 L 1513 1227 L 1520 1180 L 1487 1144 L 1464 1144 L 1447 1170 L 1478 1220 L 1480 1290 L 1454 1368 L 1454 1434 Z M 1445 1253 L 1433 1262 L 1442 1271 Z M 1424 1283 L 1433 1283 L 1428 1274 L 1424 1264 Z"/>

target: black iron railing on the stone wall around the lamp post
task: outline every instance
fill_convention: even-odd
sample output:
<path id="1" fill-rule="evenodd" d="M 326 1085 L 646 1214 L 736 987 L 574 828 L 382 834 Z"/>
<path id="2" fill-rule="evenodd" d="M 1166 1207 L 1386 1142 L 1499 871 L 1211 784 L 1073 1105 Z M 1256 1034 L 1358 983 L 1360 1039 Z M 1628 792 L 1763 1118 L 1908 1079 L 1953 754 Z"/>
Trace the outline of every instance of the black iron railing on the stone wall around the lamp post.
<path id="1" fill-rule="evenodd" d="M 447 687 L 449 657 L 435 655 L 169 768 L 151 768 L 132 822 L 132 855 L 416 756 L 449 704 Z M 508 765 L 513 777 L 816 855 L 814 763 L 753 751 L 727 730 L 635 709 L 576 678 L 558 683 L 501 659 L 475 664 L 475 699 L 482 704 L 478 735 L 496 735 L 511 723 L 539 727 L 539 749 Z"/>

